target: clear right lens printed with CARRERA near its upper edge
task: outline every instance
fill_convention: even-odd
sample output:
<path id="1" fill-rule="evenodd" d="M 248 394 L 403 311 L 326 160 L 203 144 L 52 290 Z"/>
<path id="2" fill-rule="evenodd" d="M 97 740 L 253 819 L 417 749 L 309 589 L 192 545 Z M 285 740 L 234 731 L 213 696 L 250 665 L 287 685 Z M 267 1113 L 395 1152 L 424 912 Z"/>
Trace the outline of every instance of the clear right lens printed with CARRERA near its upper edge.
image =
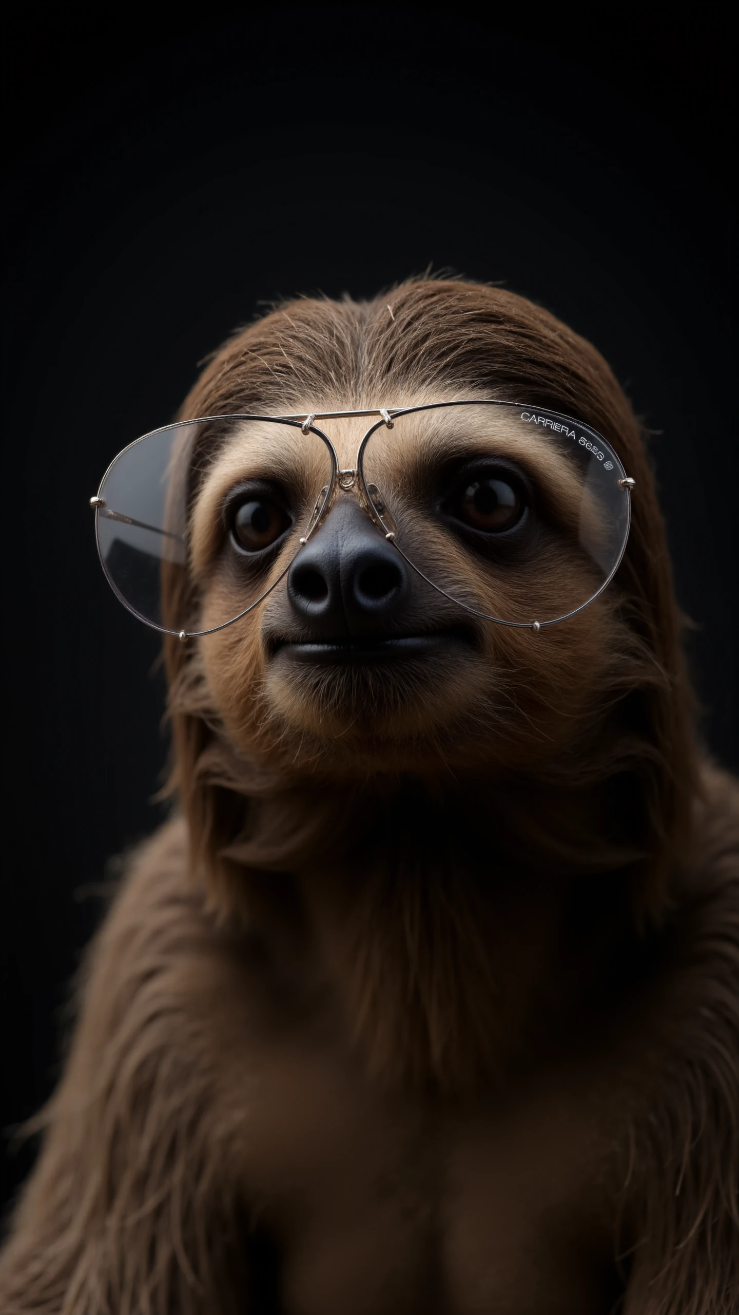
<path id="1" fill-rule="evenodd" d="M 368 439 L 363 473 L 408 560 L 496 621 L 561 619 L 623 554 L 623 467 L 598 434 L 552 412 L 465 402 L 397 416 Z"/>

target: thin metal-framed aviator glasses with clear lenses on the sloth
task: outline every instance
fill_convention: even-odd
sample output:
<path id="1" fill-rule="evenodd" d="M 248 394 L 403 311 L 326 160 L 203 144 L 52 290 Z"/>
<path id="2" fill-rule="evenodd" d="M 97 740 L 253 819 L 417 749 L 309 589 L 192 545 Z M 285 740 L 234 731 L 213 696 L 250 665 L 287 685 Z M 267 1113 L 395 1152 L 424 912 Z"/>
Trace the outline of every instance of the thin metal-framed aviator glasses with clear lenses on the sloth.
<path id="1" fill-rule="evenodd" d="M 354 466 L 342 467 L 316 421 L 358 417 L 379 418 Z M 451 401 L 179 421 L 125 447 L 89 501 L 110 588 L 145 625 L 181 640 L 252 611 L 342 493 L 447 600 L 536 633 L 581 611 L 613 580 L 634 487 L 613 447 L 581 421 L 514 402 Z M 204 617 L 191 581 L 213 569 L 217 542 L 230 556 Z"/>

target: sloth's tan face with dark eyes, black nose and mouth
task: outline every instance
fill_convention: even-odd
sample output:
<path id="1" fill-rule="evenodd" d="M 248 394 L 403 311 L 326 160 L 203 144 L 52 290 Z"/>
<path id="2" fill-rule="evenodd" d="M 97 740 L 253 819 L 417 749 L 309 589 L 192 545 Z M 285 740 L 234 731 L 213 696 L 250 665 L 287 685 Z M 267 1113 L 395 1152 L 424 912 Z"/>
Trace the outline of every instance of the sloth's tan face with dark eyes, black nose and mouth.
<path id="1" fill-rule="evenodd" d="M 237 746 L 283 768 L 367 773 L 518 768 L 567 742 L 606 660 L 609 592 L 539 634 L 452 601 L 534 618 L 594 592 L 569 525 L 583 519 L 571 467 L 494 410 L 484 435 L 469 410 L 451 408 L 371 439 L 366 473 L 405 556 L 355 489 L 300 547 L 327 481 L 322 443 L 300 430 L 276 443 L 255 422 L 231 434 L 193 512 L 203 629 L 287 569 L 255 611 L 200 640 Z M 342 468 L 355 467 L 366 429 L 362 418 L 326 422 Z"/>

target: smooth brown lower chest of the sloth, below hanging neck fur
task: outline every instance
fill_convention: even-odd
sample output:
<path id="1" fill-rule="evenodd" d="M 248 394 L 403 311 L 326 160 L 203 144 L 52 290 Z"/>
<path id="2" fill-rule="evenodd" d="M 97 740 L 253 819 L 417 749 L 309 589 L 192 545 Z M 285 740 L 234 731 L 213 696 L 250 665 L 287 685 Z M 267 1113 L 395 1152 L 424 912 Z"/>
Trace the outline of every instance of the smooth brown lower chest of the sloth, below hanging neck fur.
<path id="1" fill-rule="evenodd" d="M 618 1289 L 586 1102 L 439 1112 L 283 1056 L 255 1084 L 249 1178 L 284 1315 L 597 1315 Z"/>

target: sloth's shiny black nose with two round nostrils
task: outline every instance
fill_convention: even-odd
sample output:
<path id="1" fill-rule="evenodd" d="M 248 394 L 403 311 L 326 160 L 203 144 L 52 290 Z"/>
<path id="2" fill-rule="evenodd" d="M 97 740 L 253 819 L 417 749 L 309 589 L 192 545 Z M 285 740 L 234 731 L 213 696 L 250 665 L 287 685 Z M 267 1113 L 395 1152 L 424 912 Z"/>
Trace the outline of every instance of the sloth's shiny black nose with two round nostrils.
<path id="1" fill-rule="evenodd" d="M 292 608 L 326 639 L 383 634 L 406 594 L 402 558 L 354 497 L 339 496 L 288 572 Z"/>

